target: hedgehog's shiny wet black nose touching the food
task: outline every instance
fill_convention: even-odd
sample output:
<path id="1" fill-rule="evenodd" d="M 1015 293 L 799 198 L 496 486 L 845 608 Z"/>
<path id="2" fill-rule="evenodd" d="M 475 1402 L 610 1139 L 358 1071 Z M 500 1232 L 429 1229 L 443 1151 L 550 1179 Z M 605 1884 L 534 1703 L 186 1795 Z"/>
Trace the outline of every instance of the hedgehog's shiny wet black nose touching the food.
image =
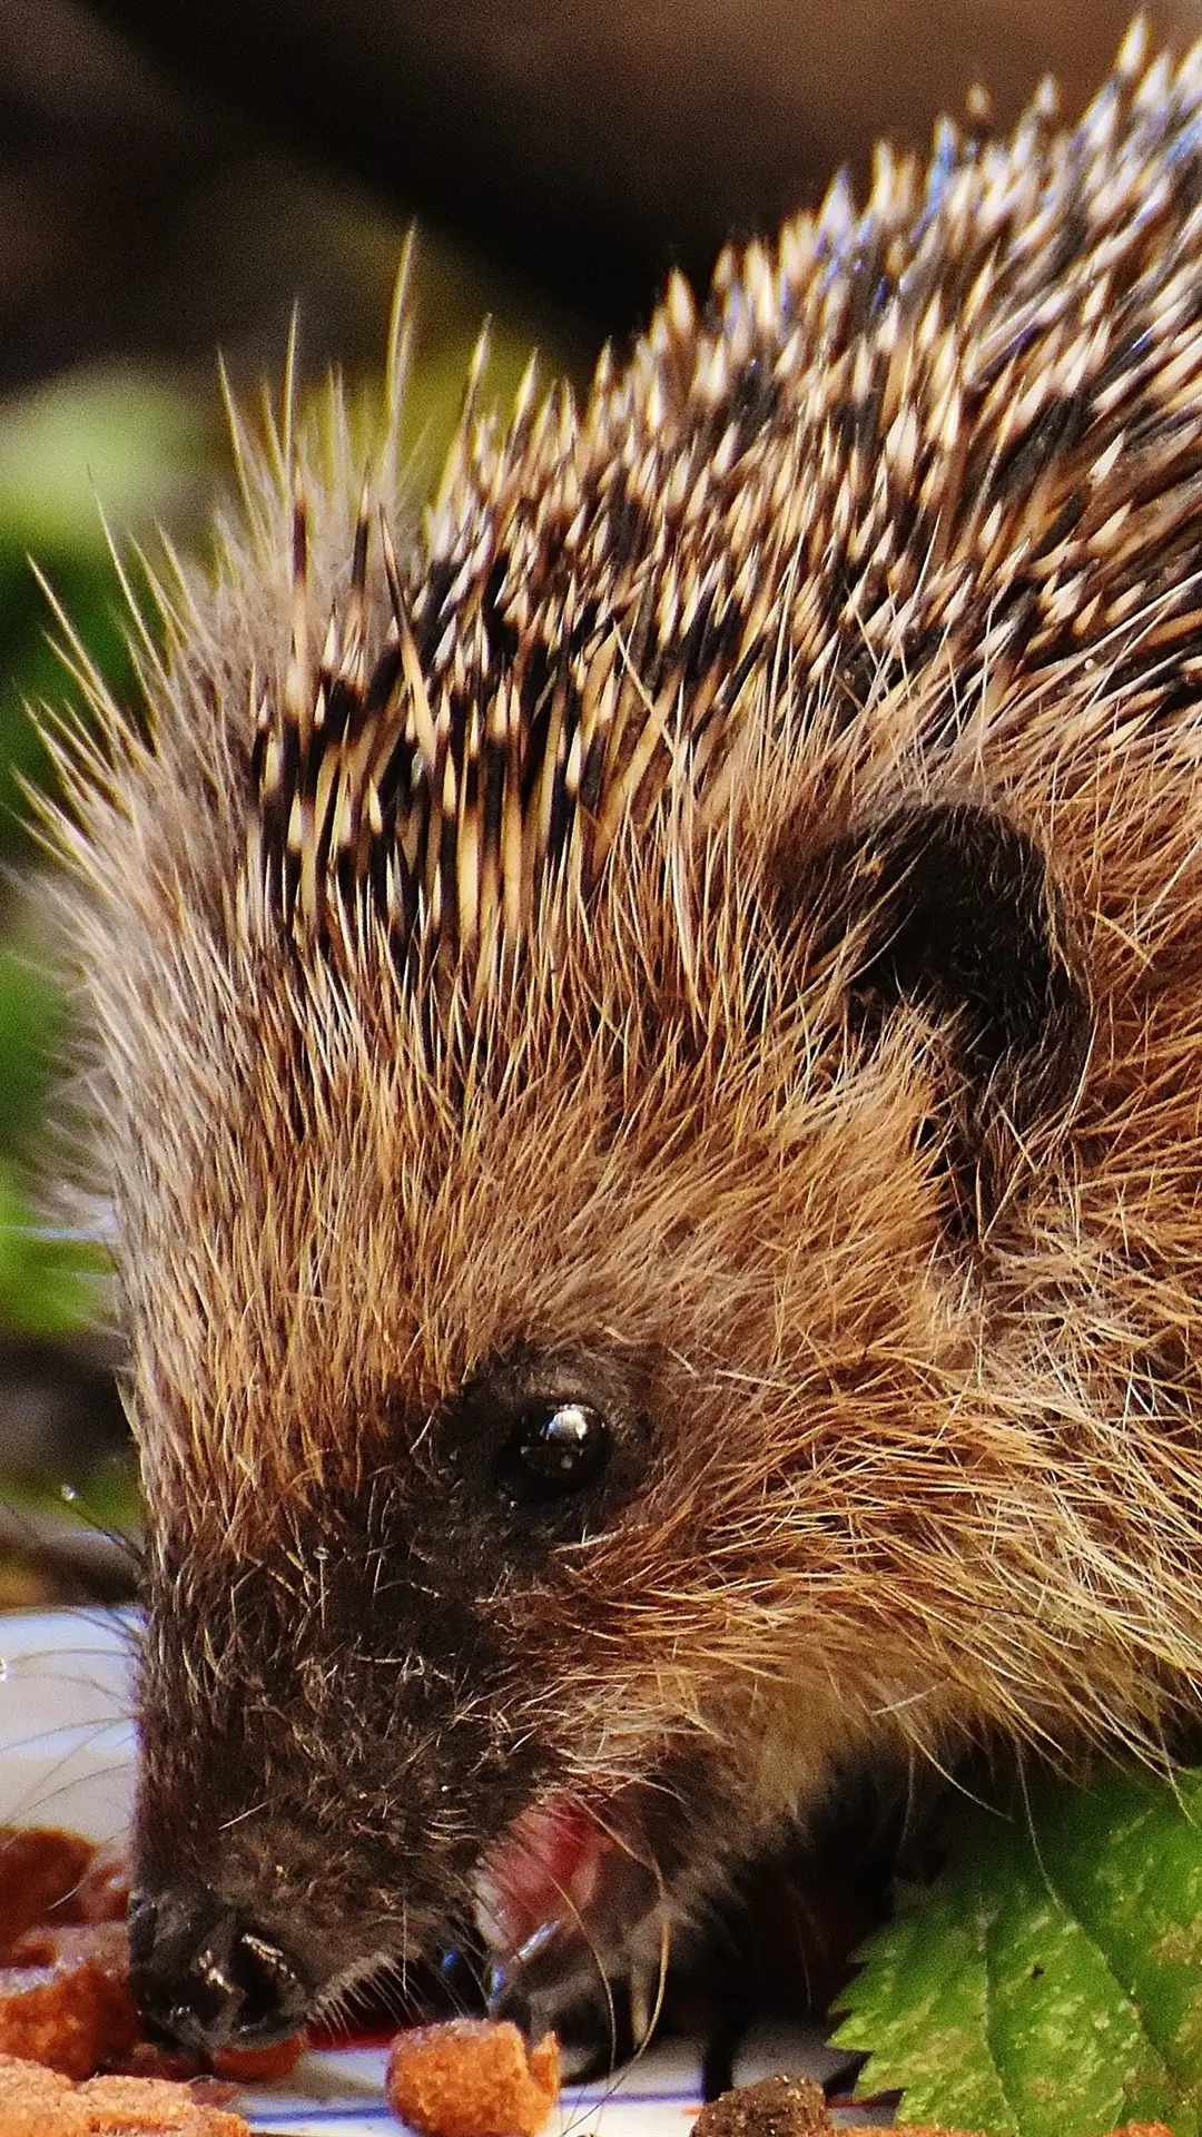
<path id="1" fill-rule="evenodd" d="M 154 2039 L 175 2047 L 265 2047 L 295 2032 L 312 1990 L 299 1964 L 203 1885 L 135 1891 L 133 1985 Z"/>

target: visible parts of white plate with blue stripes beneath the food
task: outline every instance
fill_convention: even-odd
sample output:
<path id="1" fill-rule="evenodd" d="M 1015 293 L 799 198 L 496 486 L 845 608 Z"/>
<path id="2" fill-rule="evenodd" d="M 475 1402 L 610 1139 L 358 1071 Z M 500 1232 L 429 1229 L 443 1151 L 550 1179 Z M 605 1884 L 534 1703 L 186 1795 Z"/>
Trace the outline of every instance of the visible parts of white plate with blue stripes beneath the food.
<path id="1" fill-rule="evenodd" d="M 133 1643 L 135 1620 L 120 1611 L 0 1616 L 0 1825 L 66 1825 L 92 1840 L 124 1831 L 137 1759 Z M 826 2077 L 836 2060 L 813 2028 L 755 2028 L 736 2077 Z M 235 2105 L 276 2137 L 400 2137 L 383 2071 L 383 2049 L 314 2052 L 284 2086 L 248 2086 Z M 569 2086 L 548 2137 L 687 2137 L 699 2105 L 697 2043 L 665 2041 L 614 2079 Z"/>

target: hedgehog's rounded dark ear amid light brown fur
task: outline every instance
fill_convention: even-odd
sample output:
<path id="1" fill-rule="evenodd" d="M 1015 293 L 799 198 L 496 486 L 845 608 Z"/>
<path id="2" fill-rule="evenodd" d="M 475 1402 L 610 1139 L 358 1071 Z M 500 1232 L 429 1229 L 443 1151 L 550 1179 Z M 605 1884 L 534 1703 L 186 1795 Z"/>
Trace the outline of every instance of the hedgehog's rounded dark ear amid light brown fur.
<path id="1" fill-rule="evenodd" d="M 988 1205 L 1016 1143 L 1059 1118 L 1093 1036 L 1089 989 L 1042 848 L 992 808 L 907 804 L 830 846 L 811 870 L 819 938 L 864 942 L 849 1015 L 873 1036 L 913 1002 L 947 1034 L 952 1167 Z M 815 900 L 811 904 L 811 898 Z"/>

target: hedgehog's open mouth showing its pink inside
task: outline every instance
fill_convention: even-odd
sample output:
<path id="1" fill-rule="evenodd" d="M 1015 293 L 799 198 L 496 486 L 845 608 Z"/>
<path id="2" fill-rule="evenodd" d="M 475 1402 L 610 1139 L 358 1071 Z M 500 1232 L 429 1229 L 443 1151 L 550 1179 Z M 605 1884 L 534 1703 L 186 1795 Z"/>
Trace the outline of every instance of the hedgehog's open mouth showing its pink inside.
<path id="1" fill-rule="evenodd" d="M 533 2032 L 554 2024 L 588 2049 L 616 2045 L 599 2039 L 612 2030 L 612 1981 L 637 1972 L 635 1947 L 648 1943 L 663 1902 L 646 1793 L 622 1789 L 603 1808 L 552 1795 L 524 1810 L 490 1851 L 477 1878 L 477 1921 L 492 1957 L 494 2015 Z M 659 1951 L 659 1934 L 650 1943 Z"/>

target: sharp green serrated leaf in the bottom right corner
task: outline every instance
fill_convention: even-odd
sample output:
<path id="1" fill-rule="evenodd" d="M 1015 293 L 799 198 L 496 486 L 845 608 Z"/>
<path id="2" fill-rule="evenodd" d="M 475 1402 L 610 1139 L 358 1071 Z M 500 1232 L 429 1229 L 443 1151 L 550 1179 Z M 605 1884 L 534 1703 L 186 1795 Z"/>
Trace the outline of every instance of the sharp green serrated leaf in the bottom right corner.
<path id="1" fill-rule="evenodd" d="M 1202 1772 L 1039 1789 L 965 1816 L 862 1953 L 834 2041 L 907 2122 L 990 2137 L 1202 2133 Z"/>

